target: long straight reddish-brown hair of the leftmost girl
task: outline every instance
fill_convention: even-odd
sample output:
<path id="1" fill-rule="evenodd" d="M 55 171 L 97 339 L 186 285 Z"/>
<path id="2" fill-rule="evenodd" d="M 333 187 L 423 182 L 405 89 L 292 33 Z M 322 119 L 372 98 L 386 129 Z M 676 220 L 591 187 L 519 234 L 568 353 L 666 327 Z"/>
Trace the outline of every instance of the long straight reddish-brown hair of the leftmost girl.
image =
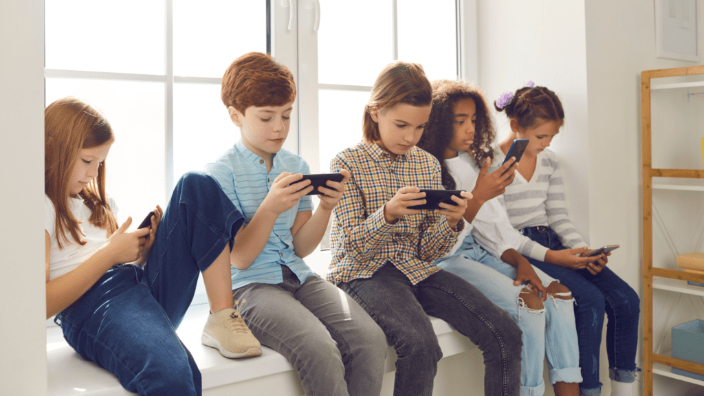
<path id="1" fill-rule="evenodd" d="M 68 205 L 68 183 L 81 149 L 97 147 L 113 139 L 113 129 L 103 113 L 80 99 L 65 97 L 44 109 L 44 194 L 56 208 L 56 240 L 85 245 L 79 222 Z M 79 193 L 92 211 L 89 222 L 113 233 L 118 228 L 105 194 L 105 163 L 98 176 Z"/>

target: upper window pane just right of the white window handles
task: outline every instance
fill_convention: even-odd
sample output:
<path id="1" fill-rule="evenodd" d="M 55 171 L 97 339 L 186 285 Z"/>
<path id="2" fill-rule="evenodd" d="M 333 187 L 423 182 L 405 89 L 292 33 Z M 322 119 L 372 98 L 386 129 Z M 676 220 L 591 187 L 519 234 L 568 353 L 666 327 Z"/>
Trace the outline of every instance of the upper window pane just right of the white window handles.
<path id="1" fill-rule="evenodd" d="M 374 84 L 394 59 L 391 1 L 320 0 L 318 81 Z"/>

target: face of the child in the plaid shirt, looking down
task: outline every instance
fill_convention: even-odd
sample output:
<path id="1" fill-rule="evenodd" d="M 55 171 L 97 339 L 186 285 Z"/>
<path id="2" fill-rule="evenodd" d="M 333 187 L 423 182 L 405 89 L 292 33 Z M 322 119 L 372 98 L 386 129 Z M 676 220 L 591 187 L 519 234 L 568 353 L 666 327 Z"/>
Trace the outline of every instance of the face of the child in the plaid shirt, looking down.
<path id="1" fill-rule="evenodd" d="M 372 120 L 379 125 L 379 147 L 391 154 L 391 159 L 406 154 L 423 135 L 430 116 L 430 105 L 413 106 L 400 103 L 390 108 L 372 111 Z"/>

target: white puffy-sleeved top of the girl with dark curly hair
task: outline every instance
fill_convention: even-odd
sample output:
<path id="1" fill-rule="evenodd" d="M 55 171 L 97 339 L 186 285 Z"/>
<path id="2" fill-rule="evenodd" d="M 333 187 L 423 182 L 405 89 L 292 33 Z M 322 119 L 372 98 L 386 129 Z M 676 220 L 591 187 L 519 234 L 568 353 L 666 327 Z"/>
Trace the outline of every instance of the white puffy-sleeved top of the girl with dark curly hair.
<path id="1" fill-rule="evenodd" d="M 474 163 L 474 159 L 465 151 L 459 151 L 458 156 L 446 159 L 445 164 L 448 172 L 455 180 L 458 190 L 472 191 L 477 184 L 479 177 L 479 167 Z M 545 253 L 548 249 L 532 242 L 528 237 L 521 235 L 513 225 L 511 225 L 506 211 L 501 206 L 498 198 L 489 199 L 474 216 L 472 226 L 465 226 L 469 229 L 474 240 L 484 247 L 492 256 L 500 259 L 503 252 L 508 249 L 515 249 L 520 254 L 530 256 L 540 261 L 545 260 Z M 461 235 L 462 239 L 466 234 Z M 455 252 L 461 243 L 455 244 L 451 252 Z"/>

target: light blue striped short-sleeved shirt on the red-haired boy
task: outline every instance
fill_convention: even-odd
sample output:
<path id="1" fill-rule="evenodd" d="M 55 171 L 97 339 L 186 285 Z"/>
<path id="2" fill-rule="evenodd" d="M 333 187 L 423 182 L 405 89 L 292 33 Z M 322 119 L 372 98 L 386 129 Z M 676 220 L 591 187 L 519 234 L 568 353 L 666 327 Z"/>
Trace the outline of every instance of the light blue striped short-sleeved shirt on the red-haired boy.
<path id="1" fill-rule="evenodd" d="M 264 159 L 247 149 L 240 140 L 217 161 L 206 165 L 206 172 L 218 180 L 227 197 L 244 214 L 245 226 L 251 221 L 278 175 L 283 172 L 310 173 L 308 163 L 291 151 L 282 149 L 273 155 L 272 161 L 271 171 L 267 173 Z M 291 235 L 296 214 L 312 210 L 313 201 L 310 195 L 306 195 L 294 207 L 280 214 L 264 249 L 251 266 L 246 270 L 231 268 L 232 288 L 237 289 L 250 283 L 282 283 L 281 266 L 289 267 L 301 283 L 313 275 L 303 259 L 294 253 L 294 237 Z"/>

